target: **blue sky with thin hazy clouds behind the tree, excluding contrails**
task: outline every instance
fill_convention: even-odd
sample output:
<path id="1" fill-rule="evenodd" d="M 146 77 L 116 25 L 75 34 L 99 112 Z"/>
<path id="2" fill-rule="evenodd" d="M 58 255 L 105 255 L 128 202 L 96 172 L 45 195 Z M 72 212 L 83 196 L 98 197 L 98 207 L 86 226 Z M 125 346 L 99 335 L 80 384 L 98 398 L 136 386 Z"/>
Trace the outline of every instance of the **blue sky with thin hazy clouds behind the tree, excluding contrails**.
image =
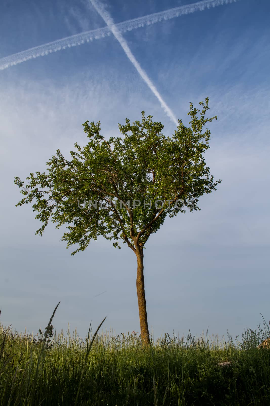
<path id="1" fill-rule="evenodd" d="M 207 328 L 208 335 L 225 339 L 228 329 L 234 339 L 245 327 L 257 328 L 260 313 L 270 319 L 270 3 L 227 3 L 209 2 L 209 9 L 121 33 L 176 119 L 187 125 L 189 102 L 199 107 L 205 97 L 209 116 L 218 116 L 208 126 L 205 158 L 223 181 L 201 197 L 200 211 L 167 218 L 146 244 L 154 340 L 165 332 L 172 337 L 173 330 L 179 338 L 189 329 L 200 336 Z M 192 1 L 102 4 L 118 24 Z M 14 177 L 45 171 L 58 148 L 68 158 L 75 142 L 84 146 L 86 120 L 100 121 L 106 139 L 119 135 L 126 117 L 140 121 L 142 110 L 164 124 L 164 135 L 176 130 L 114 35 L 3 68 L 13 54 L 104 26 L 86 0 L 0 5 L 0 322 L 17 331 L 44 328 L 60 300 L 57 331 L 66 332 L 69 323 L 70 331 L 77 327 L 85 337 L 90 321 L 94 332 L 107 316 L 103 331 L 140 332 L 136 257 L 126 244 L 118 250 L 99 238 L 71 257 L 73 250 L 60 241 L 64 227 L 49 224 L 36 236 L 40 222 L 31 205 L 15 207 L 21 194 Z M 14 58 L 19 60 L 9 60 Z"/>

